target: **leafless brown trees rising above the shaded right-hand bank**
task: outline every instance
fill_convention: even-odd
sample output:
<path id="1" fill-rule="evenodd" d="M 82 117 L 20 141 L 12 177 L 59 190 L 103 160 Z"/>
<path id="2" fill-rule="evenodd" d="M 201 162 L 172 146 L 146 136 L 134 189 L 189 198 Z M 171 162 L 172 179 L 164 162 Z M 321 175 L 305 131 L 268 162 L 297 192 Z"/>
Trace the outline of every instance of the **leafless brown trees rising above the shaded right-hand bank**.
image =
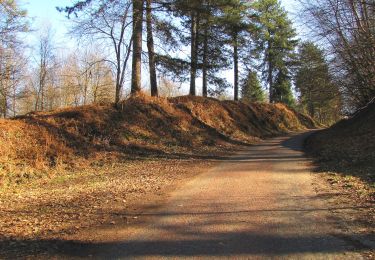
<path id="1" fill-rule="evenodd" d="M 300 0 L 304 21 L 329 48 L 330 69 L 347 109 L 375 96 L 375 4 L 373 0 Z M 322 41 L 321 41 L 322 42 Z"/>

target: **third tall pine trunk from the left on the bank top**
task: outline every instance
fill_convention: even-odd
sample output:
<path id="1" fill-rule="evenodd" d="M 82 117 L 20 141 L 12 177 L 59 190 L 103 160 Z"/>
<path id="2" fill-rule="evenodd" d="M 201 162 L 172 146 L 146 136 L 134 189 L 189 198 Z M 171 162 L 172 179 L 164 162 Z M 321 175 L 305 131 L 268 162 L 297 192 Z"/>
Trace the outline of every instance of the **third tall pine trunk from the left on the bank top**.
<path id="1" fill-rule="evenodd" d="M 190 92 L 191 96 L 195 96 L 195 78 L 197 77 L 197 14 L 195 10 L 191 11 L 191 65 L 190 65 Z"/>

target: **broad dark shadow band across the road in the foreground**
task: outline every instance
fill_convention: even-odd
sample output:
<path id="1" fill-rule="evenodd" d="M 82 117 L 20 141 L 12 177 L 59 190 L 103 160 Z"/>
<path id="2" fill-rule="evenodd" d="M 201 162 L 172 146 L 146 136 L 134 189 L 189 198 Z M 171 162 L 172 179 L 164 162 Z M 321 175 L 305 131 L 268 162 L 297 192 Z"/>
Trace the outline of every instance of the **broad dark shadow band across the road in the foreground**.
<path id="1" fill-rule="evenodd" d="M 332 234 L 332 236 L 335 236 Z M 363 238 L 366 235 L 363 235 Z M 346 239 L 341 237 L 342 240 Z M 353 238 L 350 238 L 353 240 Z M 362 237 L 358 237 L 358 240 Z M 14 243 L 14 241 L 13 241 Z M 62 240 L 23 240 L 18 243 L 31 249 L 23 256 L 81 258 L 92 257 L 113 259 L 123 257 L 194 257 L 194 256 L 230 256 L 230 255 L 262 255 L 267 257 L 282 257 L 283 255 L 299 253 L 340 253 L 347 251 L 337 244 L 324 242 L 319 235 L 305 236 L 275 236 L 247 232 L 227 232 L 200 234 L 199 239 L 186 240 L 139 240 L 127 242 L 82 243 Z M 246 246 L 248 243 L 248 246 Z M 22 257 L 18 251 L 9 246 L 11 241 L 0 242 L 1 252 L 7 259 Z M 353 251 L 368 249 L 366 246 Z M 43 252 L 43 253 L 35 253 Z M 2 256 L 0 254 L 0 256 Z"/>

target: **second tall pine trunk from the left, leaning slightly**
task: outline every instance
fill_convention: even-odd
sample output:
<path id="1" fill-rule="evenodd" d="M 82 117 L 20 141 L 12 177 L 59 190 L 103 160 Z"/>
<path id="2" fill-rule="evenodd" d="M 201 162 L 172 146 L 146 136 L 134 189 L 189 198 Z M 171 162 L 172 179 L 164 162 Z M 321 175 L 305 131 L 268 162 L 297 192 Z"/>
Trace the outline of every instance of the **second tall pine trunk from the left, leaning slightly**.
<path id="1" fill-rule="evenodd" d="M 158 96 L 158 83 L 156 80 L 156 67 L 155 67 L 155 47 L 154 47 L 154 36 L 152 35 L 152 0 L 146 0 L 147 7 L 147 48 L 148 48 L 148 63 L 150 69 L 150 84 L 151 84 L 151 96 Z"/>

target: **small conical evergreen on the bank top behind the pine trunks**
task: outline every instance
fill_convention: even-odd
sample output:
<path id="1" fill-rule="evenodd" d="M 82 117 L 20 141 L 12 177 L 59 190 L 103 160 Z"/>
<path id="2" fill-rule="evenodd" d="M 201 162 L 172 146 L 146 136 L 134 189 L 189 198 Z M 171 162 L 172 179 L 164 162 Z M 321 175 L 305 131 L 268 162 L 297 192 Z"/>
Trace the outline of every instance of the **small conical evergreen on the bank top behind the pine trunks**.
<path id="1" fill-rule="evenodd" d="M 241 100 L 246 102 L 266 101 L 266 94 L 255 71 L 249 71 L 247 77 L 242 82 Z"/>

